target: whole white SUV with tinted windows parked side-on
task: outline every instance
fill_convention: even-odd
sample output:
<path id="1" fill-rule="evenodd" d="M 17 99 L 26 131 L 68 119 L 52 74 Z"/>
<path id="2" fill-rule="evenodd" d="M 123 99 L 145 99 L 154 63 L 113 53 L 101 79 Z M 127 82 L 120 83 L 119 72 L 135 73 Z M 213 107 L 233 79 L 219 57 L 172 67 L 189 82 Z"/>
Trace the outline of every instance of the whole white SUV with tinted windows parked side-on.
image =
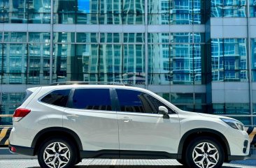
<path id="1" fill-rule="evenodd" d="M 9 140 L 11 152 L 38 155 L 47 168 L 82 158 L 174 158 L 211 168 L 250 156 L 241 122 L 185 112 L 151 91 L 118 85 L 27 89 Z"/>

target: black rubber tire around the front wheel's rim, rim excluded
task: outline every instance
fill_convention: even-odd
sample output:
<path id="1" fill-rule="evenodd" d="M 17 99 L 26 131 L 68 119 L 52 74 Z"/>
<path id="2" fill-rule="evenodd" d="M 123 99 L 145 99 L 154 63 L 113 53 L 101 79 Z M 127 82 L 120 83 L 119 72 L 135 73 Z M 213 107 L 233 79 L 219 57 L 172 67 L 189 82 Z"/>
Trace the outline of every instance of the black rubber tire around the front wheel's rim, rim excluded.
<path id="1" fill-rule="evenodd" d="M 198 144 L 201 144 L 202 142 L 208 142 L 210 144 L 213 144 L 213 146 L 215 146 L 215 148 L 217 148 L 218 153 L 219 153 L 219 160 L 218 160 L 217 164 L 215 165 L 215 167 L 213 167 L 213 168 L 221 167 L 224 162 L 224 151 L 223 151 L 221 144 L 217 140 L 213 139 L 212 137 L 198 137 L 198 138 L 192 140 L 192 142 L 190 142 L 190 144 L 187 146 L 187 151 L 185 153 L 186 165 L 190 168 L 199 168 L 194 163 L 194 160 L 192 158 L 192 153 L 193 153 L 195 146 L 197 146 Z"/>

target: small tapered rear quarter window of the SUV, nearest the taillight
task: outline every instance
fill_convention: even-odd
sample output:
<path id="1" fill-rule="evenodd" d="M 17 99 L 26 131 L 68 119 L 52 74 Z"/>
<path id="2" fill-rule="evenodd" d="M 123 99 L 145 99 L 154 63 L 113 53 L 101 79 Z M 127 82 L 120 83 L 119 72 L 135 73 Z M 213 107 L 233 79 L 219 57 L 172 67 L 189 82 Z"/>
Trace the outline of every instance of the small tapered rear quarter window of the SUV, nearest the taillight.
<path id="1" fill-rule="evenodd" d="M 66 107 L 66 103 L 69 100 L 69 93 L 71 89 L 55 90 L 48 93 L 45 97 L 41 99 L 41 102 L 45 102 L 50 105 L 57 105 L 61 107 Z"/>

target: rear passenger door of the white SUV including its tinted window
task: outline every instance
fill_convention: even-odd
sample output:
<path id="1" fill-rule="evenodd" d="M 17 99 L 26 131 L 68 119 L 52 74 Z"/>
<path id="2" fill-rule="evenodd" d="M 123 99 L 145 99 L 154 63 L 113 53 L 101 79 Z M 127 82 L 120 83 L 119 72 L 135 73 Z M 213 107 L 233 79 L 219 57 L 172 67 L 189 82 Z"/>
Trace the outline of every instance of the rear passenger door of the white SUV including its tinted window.
<path id="1" fill-rule="evenodd" d="M 118 120 L 111 91 L 82 88 L 71 93 L 63 125 L 78 134 L 84 151 L 113 150 L 113 154 L 119 154 Z"/>

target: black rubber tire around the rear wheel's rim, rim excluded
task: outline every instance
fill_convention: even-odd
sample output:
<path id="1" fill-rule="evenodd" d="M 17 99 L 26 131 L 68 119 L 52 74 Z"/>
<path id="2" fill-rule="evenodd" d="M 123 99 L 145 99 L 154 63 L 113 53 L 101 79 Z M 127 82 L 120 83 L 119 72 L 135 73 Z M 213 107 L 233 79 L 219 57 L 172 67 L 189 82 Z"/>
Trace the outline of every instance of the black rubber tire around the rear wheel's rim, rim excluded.
<path id="1" fill-rule="evenodd" d="M 46 139 L 41 146 L 38 149 L 38 162 L 39 165 L 42 168 L 49 168 L 48 165 L 45 164 L 45 161 L 43 160 L 43 152 L 45 151 L 45 148 L 49 145 L 52 144 L 53 142 L 61 142 L 68 146 L 69 151 L 70 151 L 70 160 L 69 162 L 63 167 L 63 168 L 68 168 L 68 167 L 73 167 L 76 164 L 76 148 L 73 142 L 71 142 L 69 139 L 66 139 L 65 137 L 51 137 L 49 139 Z"/>

